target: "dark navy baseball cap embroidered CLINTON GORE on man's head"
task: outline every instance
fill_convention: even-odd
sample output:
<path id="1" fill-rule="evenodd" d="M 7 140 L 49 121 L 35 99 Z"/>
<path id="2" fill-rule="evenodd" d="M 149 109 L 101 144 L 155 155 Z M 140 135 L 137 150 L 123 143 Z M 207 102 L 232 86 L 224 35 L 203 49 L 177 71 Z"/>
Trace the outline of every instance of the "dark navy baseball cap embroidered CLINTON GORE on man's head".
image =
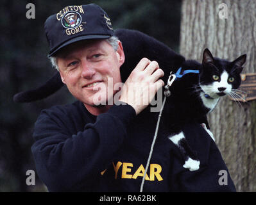
<path id="1" fill-rule="evenodd" d="M 114 35 L 107 13 L 96 4 L 66 6 L 44 24 L 49 44 L 48 57 L 79 40 L 110 38 Z"/>

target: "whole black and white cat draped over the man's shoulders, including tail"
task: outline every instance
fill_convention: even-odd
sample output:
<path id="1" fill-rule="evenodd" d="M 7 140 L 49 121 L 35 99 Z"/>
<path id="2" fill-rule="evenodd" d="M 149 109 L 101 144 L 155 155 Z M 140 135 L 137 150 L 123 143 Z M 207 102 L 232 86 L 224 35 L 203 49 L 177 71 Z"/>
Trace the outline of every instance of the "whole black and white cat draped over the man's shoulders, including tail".
<path id="1" fill-rule="evenodd" d="M 122 81 L 126 81 L 137 63 L 143 58 L 155 60 L 164 70 L 162 78 L 167 82 L 170 71 L 199 70 L 197 73 L 189 73 L 177 79 L 171 86 L 171 97 L 167 98 L 164 108 L 162 128 L 166 130 L 168 138 L 175 143 L 181 151 L 185 164 L 183 167 L 189 170 L 197 170 L 200 160 L 196 152 L 192 151 L 185 139 L 182 127 L 189 122 L 202 124 L 214 140 L 209 130 L 207 113 L 212 111 L 220 97 L 224 95 L 237 95 L 236 90 L 241 84 L 240 73 L 242 65 L 246 61 L 246 55 L 240 56 L 234 61 L 214 58 L 208 49 L 203 52 L 203 61 L 198 63 L 175 53 L 167 45 L 149 37 L 139 31 L 130 29 L 117 29 L 115 36 L 121 40 L 126 60 L 121 66 Z M 55 93 L 64 84 L 60 75 L 56 72 L 53 78 L 44 85 L 21 92 L 13 97 L 15 102 L 32 102 L 44 99 Z"/>

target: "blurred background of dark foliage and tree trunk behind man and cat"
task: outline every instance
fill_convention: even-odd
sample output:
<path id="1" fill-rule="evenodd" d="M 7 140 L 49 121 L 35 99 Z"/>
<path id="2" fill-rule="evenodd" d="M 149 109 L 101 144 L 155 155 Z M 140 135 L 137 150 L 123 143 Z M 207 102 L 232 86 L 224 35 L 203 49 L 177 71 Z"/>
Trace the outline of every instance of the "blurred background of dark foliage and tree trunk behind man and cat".
<path id="1" fill-rule="evenodd" d="M 35 19 L 26 18 L 28 3 L 35 5 Z M 256 73 L 256 0 L 2 0 L 0 192 L 47 192 L 31 155 L 33 126 L 42 109 L 75 99 L 65 86 L 37 102 L 19 104 L 12 98 L 42 85 L 55 72 L 47 59 L 47 17 L 65 6 L 89 3 L 108 13 L 114 29 L 142 31 L 187 59 L 201 61 L 206 47 L 229 60 L 246 53 L 243 73 Z M 223 97 L 209 123 L 237 191 L 256 192 L 256 101 L 235 103 Z M 35 170 L 35 185 L 26 184 L 27 170 Z"/>

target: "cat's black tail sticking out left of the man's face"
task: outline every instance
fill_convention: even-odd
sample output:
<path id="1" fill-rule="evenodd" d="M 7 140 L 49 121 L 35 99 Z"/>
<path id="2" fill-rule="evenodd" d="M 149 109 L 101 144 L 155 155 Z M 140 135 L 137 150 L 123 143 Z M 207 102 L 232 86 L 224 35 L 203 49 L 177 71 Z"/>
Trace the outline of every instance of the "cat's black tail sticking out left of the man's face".
<path id="1" fill-rule="evenodd" d="M 62 88 L 64 83 L 60 78 L 59 72 L 51 77 L 44 85 L 39 86 L 38 88 L 28 90 L 25 92 L 19 92 L 13 96 L 14 102 L 33 102 L 44 99 L 51 94 L 54 94 L 57 90 Z"/>

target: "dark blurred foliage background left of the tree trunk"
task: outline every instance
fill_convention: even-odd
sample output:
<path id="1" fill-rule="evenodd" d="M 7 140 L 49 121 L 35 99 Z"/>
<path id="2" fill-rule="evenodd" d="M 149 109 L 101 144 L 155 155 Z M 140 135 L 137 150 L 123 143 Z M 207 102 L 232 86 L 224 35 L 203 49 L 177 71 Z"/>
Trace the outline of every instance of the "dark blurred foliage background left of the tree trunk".
<path id="1" fill-rule="evenodd" d="M 26 4 L 35 4 L 35 19 L 27 19 Z M 99 0 L 32 1 L 2 0 L 0 7 L 0 192 L 44 192 L 37 177 L 27 186 L 26 171 L 35 170 L 30 147 L 35 120 L 40 111 L 56 104 L 73 102 L 63 87 L 56 94 L 33 103 L 14 103 L 17 92 L 42 85 L 55 70 L 47 59 L 44 22 L 65 6 L 96 3 L 107 13 L 114 29 L 138 29 L 178 52 L 180 1 Z"/>

